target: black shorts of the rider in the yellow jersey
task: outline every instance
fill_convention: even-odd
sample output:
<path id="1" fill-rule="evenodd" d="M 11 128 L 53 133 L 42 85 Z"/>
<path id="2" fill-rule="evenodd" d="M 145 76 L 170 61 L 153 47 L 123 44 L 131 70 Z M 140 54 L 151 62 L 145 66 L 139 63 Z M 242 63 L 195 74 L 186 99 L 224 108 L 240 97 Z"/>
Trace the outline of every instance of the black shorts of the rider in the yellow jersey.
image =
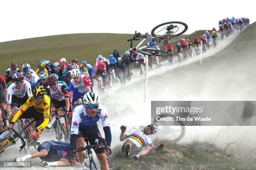
<path id="1" fill-rule="evenodd" d="M 20 118 L 34 118 L 36 119 L 36 125 L 35 128 L 37 128 L 39 125 L 41 125 L 42 122 L 44 122 L 44 114 L 40 113 L 36 110 L 35 107 L 30 106 L 27 110 L 25 110 L 21 115 Z M 42 129 L 41 131 L 43 131 Z"/>

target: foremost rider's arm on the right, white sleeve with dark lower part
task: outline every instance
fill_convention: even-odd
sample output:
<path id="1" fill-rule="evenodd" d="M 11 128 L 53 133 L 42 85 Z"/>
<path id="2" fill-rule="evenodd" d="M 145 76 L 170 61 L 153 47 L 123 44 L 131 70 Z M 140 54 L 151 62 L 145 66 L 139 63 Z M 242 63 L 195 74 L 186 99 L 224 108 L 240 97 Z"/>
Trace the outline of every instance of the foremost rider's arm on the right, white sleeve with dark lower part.
<path id="1" fill-rule="evenodd" d="M 105 133 L 105 138 L 108 146 L 111 145 L 111 140 L 112 140 L 112 135 L 111 135 L 111 130 L 110 130 L 110 121 L 108 117 L 108 111 L 107 109 L 101 105 L 101 112 L 100 112 L 100 117 L 102 120 L 102 127 Z"/>

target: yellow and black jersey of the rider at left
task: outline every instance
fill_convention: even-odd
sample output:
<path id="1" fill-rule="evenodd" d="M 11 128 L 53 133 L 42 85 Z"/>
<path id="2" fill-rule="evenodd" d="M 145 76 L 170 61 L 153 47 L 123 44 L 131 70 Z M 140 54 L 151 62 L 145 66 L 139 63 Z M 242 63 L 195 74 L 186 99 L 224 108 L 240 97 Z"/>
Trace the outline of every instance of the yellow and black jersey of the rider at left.
<path id="1" fill-rule="evenodd" d="M 20 107 L 20 110 L 14 115 L 13 120 L 11 122 L 16 122 L 20 115 L 25 112 L 28 107 L 33 106 L 38 112 L 34 114 L 44 114 L 44 122 L 41 123 L 36 129 L 36 131 L 44 129 L 49 124 L 49 117 L 51 112 L 51 99 L 48 95 L 44 95 L 44 100 L 39 105 L 34 103 L 33 95 L 28 98 L 28 100 Z"/>

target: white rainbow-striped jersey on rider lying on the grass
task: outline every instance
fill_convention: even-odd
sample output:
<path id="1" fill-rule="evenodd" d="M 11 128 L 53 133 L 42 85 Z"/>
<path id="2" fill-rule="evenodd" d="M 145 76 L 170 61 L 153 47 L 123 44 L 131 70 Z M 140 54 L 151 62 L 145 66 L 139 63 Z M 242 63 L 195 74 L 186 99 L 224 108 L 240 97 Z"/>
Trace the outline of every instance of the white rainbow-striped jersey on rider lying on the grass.
<path id="1" fill-rule="evenodd" d="M 152 140 L 148 137 L 148 135 L 140 130 L 131 129 L 127 133 L 125 133 L 125 135 L 127 135 L 128 137 L 126 140 L 132 140 L 137 148 L 153 144 Z"/>

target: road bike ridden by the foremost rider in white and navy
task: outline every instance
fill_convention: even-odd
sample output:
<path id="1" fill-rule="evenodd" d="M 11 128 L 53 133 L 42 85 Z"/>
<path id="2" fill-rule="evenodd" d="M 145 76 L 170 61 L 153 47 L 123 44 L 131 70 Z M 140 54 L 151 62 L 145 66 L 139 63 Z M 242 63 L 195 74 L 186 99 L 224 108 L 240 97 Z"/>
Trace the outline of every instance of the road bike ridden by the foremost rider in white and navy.
<path id="1" fill-rule="evenodd" d="M 86 159 L 89 158 L 89 161 L 90 161 L 90 164 L 89 164 L 90 170 L 97 170 L 97 166 L 96 166 L 96 164 L 93 160 L 93 157 L 92 157 L 92 150 L 91 149 L 95 149 L 95 148 L 104 146 L 105 150 L 108 152 L 107 142 L 104 138 L 102 138 L 102 140 L 103 140 L 103 143 L 90 145 L 89 144 L 89 138 L 86 137 L 86 138 L 84 138 L 84 141 L 86 142 L 85 147 L 77 148 L 77 149 L 73 149 L 73 147 L 70 147 L 71 160 L 73 160 L 73 158 L 74 158 L 74 152 L 79 152 L 79 151 L 85 150 L 85 158 Z"/>

